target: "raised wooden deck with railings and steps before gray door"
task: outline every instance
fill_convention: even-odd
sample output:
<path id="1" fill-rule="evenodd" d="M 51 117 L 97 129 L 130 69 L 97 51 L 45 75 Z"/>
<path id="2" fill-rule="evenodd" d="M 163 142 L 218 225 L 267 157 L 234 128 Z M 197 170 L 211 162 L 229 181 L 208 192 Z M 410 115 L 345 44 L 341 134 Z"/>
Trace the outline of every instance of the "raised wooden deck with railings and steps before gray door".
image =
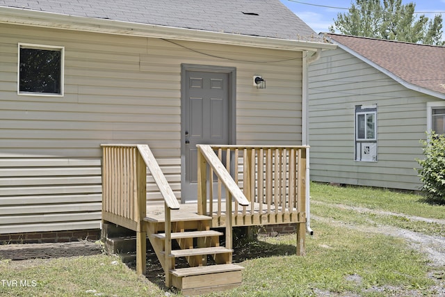
<path id="1" fill-rule="evenodd" d="M 296 223 L 296 253 L 305 255 L 307 149 L 197 145 L 197 202 L 179 204 L 148 145 L 103 145 L 102 223 L 136 231 L 138 274 L 145 274 L 148 237 L 167 287 L 183 294 L 236 287 L 243 267 L 232 264 L 233 227 Z M 147 169 L 161 205 L 147 204 Z M 225 246 L 223 233 L 211 230 L 220 227 Z M 177 268 L 177 257 L 190 267 Z M 209 257 L 216 265 L 207 266 Z"/>

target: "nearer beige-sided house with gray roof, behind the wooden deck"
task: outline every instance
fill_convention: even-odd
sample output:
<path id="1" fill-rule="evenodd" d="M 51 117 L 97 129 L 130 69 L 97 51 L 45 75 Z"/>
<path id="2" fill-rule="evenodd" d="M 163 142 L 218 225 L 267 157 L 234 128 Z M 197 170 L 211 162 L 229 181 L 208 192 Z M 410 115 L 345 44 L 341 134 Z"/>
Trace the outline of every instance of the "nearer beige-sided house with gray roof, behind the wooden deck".
<path id="1" fill-rule="evenodd" d="M 148 144 L 182 202 L 193 143 L 305 143 L 334 46 L 278 0 L 221 3 L 0 0 L 0 234 L 98 229 L 104 143 Z"/>

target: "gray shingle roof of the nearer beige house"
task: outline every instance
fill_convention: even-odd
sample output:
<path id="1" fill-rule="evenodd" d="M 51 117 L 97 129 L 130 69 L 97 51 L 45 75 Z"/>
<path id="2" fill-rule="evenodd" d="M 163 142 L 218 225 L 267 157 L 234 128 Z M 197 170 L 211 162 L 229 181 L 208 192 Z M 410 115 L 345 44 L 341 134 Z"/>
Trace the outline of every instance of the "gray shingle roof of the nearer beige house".
<path id="1" fill-rule="evenodd" d="M 0 0 L 0 6 L 284 40 L 318 37 L 279 0 Z"/>

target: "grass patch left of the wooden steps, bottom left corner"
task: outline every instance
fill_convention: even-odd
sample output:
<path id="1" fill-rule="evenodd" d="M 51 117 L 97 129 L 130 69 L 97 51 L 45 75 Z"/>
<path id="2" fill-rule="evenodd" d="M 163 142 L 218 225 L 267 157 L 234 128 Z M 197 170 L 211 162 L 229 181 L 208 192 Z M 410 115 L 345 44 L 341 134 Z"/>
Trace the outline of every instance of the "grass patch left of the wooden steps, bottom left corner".
<path id="1" fill-rule="evenodd" d="M 0 262 L 0 296 L 163 296 L 164 292 L 120 262 L 118 257 L 96 255 L 27 262 Z M 14 286 L 12 281 L 27 281 Z M 34 282 L 33 282 L 34 281 Z M 33 285 L 35 284 L 35 286 Z M 95 292 L 88 292 L 95 290 Z M 99 295 L 101 296 L 101 295 Z"/>

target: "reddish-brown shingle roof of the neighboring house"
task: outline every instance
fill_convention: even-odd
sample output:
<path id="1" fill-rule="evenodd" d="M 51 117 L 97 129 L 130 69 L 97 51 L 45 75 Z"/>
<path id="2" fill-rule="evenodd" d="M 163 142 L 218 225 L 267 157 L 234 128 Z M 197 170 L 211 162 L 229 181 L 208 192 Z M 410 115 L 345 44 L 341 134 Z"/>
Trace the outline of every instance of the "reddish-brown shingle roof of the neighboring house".
<path id="1" fill-rule="evenodd" d="M 445 47 L 332 33 L 325 35 L 407 83 L 445 94 Z"/>

